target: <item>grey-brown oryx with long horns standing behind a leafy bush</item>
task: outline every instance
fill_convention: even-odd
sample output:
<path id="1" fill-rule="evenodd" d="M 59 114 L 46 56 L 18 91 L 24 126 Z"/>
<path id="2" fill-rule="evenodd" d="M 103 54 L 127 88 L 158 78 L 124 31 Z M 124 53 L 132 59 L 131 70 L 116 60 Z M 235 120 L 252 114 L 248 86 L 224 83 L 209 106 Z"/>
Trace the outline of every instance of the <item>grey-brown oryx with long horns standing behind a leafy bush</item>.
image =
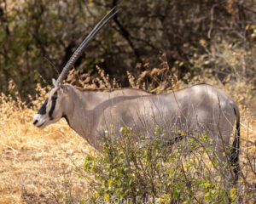
<path id="1" fill-rule="evenodd" d="M 230 143 L 236 122 L 231 162 L 237 179 L 240 115 L 236 103 L 224 91 L 211 85 L 198 84 L 172 93 L 154 95 L 132 88 L 101 92 L 63 84 L 67 72 L 88 42 L 114 14 L 116 10 L 113 9 L 80 44 L 54 82 L 44 105 L 34 116 L 33 124 L 43 128 L 64 117 L 75 132 L 98 150 L 102 149 L 103 135 L 110 126 L 113 127 L 113 135 L 124 126 L 132 127 L 140 134 L 153 135 L 150 130 L 159 125 L 165 129 L 167 138 L 172 137 L 173 128 L 183 129 L 187 134 L 204 131 L 215 141 L 220 159 L 226 161 L 222 152 L 224 145 Z"/>

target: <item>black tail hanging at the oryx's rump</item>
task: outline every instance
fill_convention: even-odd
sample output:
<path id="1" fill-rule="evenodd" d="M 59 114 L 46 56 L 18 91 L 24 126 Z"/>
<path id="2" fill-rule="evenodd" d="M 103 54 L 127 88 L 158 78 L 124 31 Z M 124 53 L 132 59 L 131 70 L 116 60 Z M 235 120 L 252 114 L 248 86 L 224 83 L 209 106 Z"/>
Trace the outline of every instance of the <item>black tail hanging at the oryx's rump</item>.
<path id="1" fill-rule="evenodd" d="M 231 167 L 235 173 L 235 184 L 237 183 L 240 167 L 239 167 L 239 146 L 240 146 L 240 114 L 237 106 L 234 107 L 235 115 L 236 115 L 236 135 L 232 144 L 230 162 Z"/>

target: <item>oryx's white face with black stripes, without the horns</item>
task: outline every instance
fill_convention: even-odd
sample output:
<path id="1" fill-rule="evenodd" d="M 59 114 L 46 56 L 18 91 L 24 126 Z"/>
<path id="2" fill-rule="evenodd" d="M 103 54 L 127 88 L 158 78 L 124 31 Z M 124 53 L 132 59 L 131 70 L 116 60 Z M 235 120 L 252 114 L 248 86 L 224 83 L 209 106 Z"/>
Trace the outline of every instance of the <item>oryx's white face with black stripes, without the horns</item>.
<path id="1" fill-rule="evenodd" d="M 57 122 L 63 116 L 62 101 L 64 98 L 63 88 L 52 88 L 47 99 L 33 118 L 33 125 L 44 128 L 51 123 Z"/>

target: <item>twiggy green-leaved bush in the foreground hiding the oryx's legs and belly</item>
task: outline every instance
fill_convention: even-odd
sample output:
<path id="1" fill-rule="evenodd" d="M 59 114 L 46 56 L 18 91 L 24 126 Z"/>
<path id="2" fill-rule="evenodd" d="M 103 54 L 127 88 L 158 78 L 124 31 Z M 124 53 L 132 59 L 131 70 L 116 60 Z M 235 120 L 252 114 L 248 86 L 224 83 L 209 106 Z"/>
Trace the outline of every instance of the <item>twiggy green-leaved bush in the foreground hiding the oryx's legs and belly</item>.
<path id="1" fill-rule="evenodd" d="M 235 203 L 236 188 L 218 171 L 206 134 L 172 144 L 158 126 L 154 139 L 137 139 L 131 127 L 120 133 L 106 139 L 102 154 L 86 156 L 93 193 L 85 203 Z"/>

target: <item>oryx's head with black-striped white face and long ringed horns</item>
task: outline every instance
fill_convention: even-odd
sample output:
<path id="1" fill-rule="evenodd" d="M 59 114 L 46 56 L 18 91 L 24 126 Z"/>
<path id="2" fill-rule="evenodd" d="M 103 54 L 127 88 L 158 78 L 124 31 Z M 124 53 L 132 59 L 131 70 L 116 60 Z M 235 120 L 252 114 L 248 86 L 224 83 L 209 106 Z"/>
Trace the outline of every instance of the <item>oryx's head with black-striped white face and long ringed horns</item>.
<path id="1" fill-rule="evenodd" d="M 100 31 L 102 27 L 108 23 L 108 20 L 110 20 L 117 12 L 118 10 L 113 8 L 107 15 L 105 15 L 93 30 L 90 31 L 89 35 L 84 38 L 84 41 L 79 45 L 79 48 L 77 48 L 72 57 L 68 60 L 67 65 L 65 65 L 63 71 L 61 71 L 58 79 L 53 82 L 54 88 L 49 91 L 47 99 L 45 99 L 44 104 L 33 118 L 33 124 L 36 127 L 46 127 L 51 123 L 59 121 L 61 117 L 64 116 L 64 99 L 67 95 L 65 94 L 65 86 L 62 86 L 63 80 L 67 77 L 68 71 L 73 67 L 76 60 L 79 59 L 79 56 L 82 54 L 90 40 L 96 36 L 96 33 Z"/>

